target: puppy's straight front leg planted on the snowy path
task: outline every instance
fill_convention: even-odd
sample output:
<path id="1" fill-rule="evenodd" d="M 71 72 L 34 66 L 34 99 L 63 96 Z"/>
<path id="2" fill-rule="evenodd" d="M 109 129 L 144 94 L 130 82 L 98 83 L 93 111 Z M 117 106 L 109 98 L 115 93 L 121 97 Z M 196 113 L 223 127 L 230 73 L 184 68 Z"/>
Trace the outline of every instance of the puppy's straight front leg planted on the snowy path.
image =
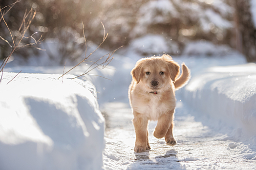
<path id="1" fill-rule="evenodd" d="M 134 111 L 135 112 L 135 111 Z M 149 139 L 148 139 L 148 121 L 149 119 L 140 113 L 133 113 L 134 119 L 132 120 L 135 134 L 136 134 L 136 141 L 134 152 L 135 153 L 142 153 L 145 152 L 147 149 L 150 149 L 149 146 Z"/>

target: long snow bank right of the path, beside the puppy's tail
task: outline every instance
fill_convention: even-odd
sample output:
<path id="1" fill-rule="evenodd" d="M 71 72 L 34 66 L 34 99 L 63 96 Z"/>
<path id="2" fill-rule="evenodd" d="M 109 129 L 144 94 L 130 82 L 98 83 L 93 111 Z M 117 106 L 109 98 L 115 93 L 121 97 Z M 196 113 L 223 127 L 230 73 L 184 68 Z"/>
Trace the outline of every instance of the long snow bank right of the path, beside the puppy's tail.
<path id="1" fill-rule="evenodd" d="M 235 141 L 229 143 L 227 150 L 252 160 L 256 159 L 255 73 L 254 63 L 206 65 L 192 71 L 190 83 L 181 92 L 184 101 L 196 109 L 196 120 L 226 134 L 217 140 Z"/>

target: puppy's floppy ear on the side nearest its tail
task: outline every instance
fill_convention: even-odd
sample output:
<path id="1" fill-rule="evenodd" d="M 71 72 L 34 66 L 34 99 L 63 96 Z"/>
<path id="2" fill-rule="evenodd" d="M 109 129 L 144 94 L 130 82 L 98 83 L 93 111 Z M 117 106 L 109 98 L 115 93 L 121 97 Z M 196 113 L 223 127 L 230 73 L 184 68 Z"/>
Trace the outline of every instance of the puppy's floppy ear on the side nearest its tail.
<path id="1" fill-rule="evenodd" d="M 175 82 L 175 79 L 180 74 L 180 66 L 172 60 L 170 55 L 163 55 L 162 57 L 168 63 L 168 69 L 171 80 Z"/>

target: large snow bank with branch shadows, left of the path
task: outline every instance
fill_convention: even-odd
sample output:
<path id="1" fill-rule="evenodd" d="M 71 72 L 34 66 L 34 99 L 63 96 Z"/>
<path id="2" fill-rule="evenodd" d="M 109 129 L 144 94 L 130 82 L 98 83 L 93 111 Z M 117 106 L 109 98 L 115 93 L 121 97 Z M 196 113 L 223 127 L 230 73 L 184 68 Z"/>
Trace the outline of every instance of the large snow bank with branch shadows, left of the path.
<path id="1" fill-rule="evenodd" d="M 105 120 L 95 87 L 72 75 L 3 73 L 1 170 L 100 170 Z M 80 82 L 79 85 L 78 82 Z"/>

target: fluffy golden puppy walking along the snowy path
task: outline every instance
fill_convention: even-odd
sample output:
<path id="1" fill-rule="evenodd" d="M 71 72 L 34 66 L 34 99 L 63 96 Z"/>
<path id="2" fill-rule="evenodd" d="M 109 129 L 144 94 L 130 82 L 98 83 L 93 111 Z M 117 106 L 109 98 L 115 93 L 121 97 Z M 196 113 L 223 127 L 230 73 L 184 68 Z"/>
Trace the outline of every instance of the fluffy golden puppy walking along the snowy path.
<path id="1" fill-rule="evenodd" d="M 153 135 L 165 137 L 168 145 L 177 144 L 172 135 L 175 90 L 186 85 L 190 79 L 190 69 L 179 65 L 169 55 L 142 58 L 131 70 L 132 82 L 129 85 L 129 102 L 133 111 L 132 120 L 136 141 L 134 152 L 141 153 L 150 149 L 148 121 L 158 120 Z"/>

